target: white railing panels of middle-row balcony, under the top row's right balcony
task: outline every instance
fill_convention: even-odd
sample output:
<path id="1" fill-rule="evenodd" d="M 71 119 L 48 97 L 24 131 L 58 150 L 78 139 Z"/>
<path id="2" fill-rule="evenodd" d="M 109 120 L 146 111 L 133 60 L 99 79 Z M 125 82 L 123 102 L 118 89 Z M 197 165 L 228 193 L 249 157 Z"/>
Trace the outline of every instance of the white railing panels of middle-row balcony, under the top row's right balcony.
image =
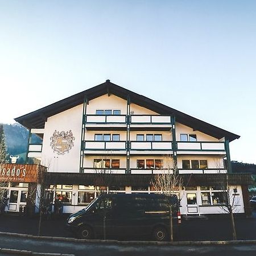
<path id="1" fill-rule="evenodd" d="M 131 141 L 130 150 L 171 151 L 171 141 Z"/>

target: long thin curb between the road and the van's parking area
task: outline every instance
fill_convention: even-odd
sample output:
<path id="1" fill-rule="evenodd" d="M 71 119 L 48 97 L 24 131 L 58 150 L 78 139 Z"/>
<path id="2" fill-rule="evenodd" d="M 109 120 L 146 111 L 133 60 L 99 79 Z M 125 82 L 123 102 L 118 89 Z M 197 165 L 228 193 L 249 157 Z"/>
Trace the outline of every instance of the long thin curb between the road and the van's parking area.
<path id="1" fill-rule="evenodd" d="M 157 242 L 157 241 L 117 241 L 117 240 L 85 240 L 77 239 L 72 237 L 47 237 L 47 236 L 33 236 L 31 234 L 19 234 L 19 233 L 5 233 L 0 232 L 0 236 L 11 236 L 11 237 L 26 237 L 34 240 L 49 240 L 49 241 L 62 241 L 62 242 L 76 242 L 76 243 L 109 243 L 115 245 L 247 245 L 247 244 L 256 244 L 256 240 L 237 240 L 237 241 L 175 241 L 175 242 Z M 11 250 L 11 249 L 1 249 L 2 250 Z M 21 250 L 22 251 L 22 250 Z M 30 252 L 30 251 L 28 251 Z M 33 254 L 30 252 L 30 255 L 43 255 L 43 254 Z M 72 254 L 46 254 L 51 256 L 65 256 Z"/>

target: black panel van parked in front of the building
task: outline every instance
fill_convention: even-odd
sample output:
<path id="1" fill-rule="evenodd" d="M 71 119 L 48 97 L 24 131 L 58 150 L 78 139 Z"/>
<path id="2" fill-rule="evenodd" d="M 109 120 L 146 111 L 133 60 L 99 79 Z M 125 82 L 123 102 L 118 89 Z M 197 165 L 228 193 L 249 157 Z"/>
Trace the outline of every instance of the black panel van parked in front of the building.
<path id="1" fill-rule="evenodd" d="M 86 208 L 73 213 L 67 229 L 76 237 L 120 238 L 150 235 L 156 241 L 166 241 L 170 230 L 168 200 L 160 194 L 104 194 L 96 197 Z M 180 223 L 179 200 L 172 198 L 173 223 Z M 177 225 L 176 225 L 177 226 Z"/>

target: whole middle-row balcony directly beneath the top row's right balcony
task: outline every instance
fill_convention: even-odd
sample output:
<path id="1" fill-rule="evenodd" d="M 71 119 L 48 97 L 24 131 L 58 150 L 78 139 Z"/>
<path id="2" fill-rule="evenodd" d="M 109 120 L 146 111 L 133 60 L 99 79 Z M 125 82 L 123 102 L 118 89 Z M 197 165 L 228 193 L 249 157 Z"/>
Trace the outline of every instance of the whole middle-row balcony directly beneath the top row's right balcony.
<path id="1" fill-rule="evenodd" d="M 130 154 L 172 154 L 171 141 L 131 141 Z"/>

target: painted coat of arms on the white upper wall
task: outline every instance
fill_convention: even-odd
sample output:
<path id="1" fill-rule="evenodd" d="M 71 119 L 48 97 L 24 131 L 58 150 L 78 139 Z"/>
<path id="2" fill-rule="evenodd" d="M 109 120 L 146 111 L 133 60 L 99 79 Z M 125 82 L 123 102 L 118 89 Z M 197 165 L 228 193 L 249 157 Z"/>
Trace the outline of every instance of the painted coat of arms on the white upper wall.
<path id="1" fill-rule="evenodd" d="M 68 153 L 69 150 L 71 150 L 71 148 L 74 146 L 73 141 L 75 141 L 75 137 L 73 137 L 71 130 L 67 132 L 55 130 L 50 139 L 50 146 L 54 152 L 57 152 L 58 155 Z"/>

